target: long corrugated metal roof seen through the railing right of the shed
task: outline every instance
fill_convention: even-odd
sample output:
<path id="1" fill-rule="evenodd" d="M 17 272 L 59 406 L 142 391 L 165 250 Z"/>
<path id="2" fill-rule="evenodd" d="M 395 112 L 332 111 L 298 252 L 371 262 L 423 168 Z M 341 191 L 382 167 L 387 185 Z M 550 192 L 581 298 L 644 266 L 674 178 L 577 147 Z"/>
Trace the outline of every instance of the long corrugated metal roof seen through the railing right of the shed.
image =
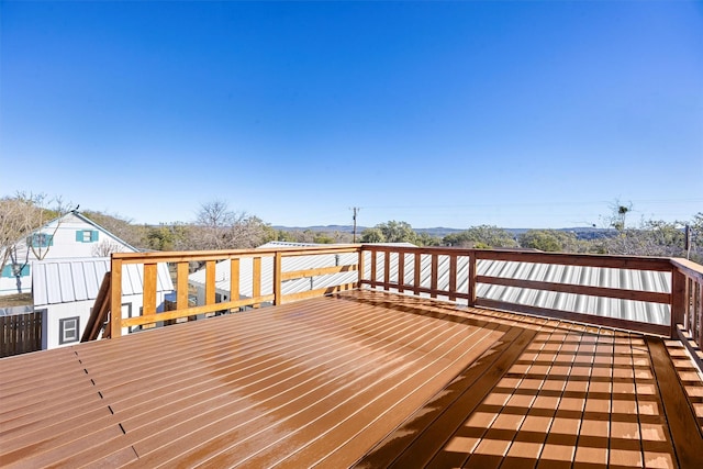
<path id="1" fill-rule="evenodd" d="M 300 244 L 288 244 L 287 247 L 299 247 Z M 266 245 L 266 247 L 276 247 Z M 365 278 L 370 278 L 370 254 L 366 255 Z M 404 264 L 404 282 L 413 284 L 415 268 L 414 255 L 405 254 Z M 398 280 L 398 259 L 399 255 L 391 254 L 390 259 L 390 281 Z M 355 253 L 339 255 L 338 265 L 356 264 L 358 256 Z M 383 255 L 377 256 L 377 271 L 382 280 L 383 272 Z M 330 267 L 335 265 L 335 255 L 321 256 L 297 256 L 284 257 L 282 267 L 283 271 L 304 270 L 315 267 Z M 459 257 L 457 259 L 457 291 L 468 292 L 468 271 L 469 258 Z M 261 260 L 261 294 L 272 293 L 272 258 L 264 258 Z M 432 282 L 432 256 L 421 256 L 421 287 L 431 288 Z M 449 256 L 442 255 L 437 259 L 437 288 L 440 290 L 449 289 Z M 632 269 L 613 269 L 601 267 L 582 267 L 582 266 L 560 266 L 534 263 L 514 263 L 504 260 L 487 260 L 477 261 L 478 275 L 490 277 L 504 277 L 520 280 L 532 280 L 543 282 L 567 283 L 588 287 L 603 287 L 613 289 L 629 289 L 651 291 L 659 293 L 668 293 L 671 291 L 671 275 L 659 271 L 644 271 Z M 230 291 L 230 263 L 219 263 L 215 269 L 215 287 L 221 290 Z M 282 283 L 283 294 L 298 293 L 332 287 L 341 283 L 349 283 L 356 281 L 358 272 L 342 272 L 330 276 L 315 277 L 312 280 L 294 279 Z M 196 286 L 204 286 L 205 272 L 200 270 L 190 276 L 191 283 Z M 406 292 L 411 293 L 411 292 Z M 252 295 L 252 259 L 243 258 L 241 260 L 241 294 L 243 297 Z M 598 314 L 611 317 L 621 317 L 624 320 L 647 322 L 654 324 L 669 324 L 670 308 L 668 304 L 648 303 L 632 300 L 618 300 L 601 297 L 590 297 L 584 294 L 562 293 L 545 290 L 533 290 L 516 287 L 503 287 L 488 283 L 479 283 L 477 286 L 477 297 L 489 300 L 516 303 L 521 305 L 569 311 L 583 314 Z M 466 300 L 458 300 L 458 303 L 467 303 Z"/>

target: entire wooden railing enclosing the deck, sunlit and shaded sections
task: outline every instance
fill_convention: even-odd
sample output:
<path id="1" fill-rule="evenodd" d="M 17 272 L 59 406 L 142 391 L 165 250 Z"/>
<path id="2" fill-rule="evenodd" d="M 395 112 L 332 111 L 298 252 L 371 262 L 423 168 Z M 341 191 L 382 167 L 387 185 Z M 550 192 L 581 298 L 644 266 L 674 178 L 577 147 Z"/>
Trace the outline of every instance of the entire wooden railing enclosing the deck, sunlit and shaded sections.
<path id="1" fill-rule="evenodd" d="M 325 265 L 324 267 L 305 267 L 299 270 L 284 271 L 283 259 L 297 256 L 353 255 L 354 263 L 346 265 Z M 339 256 L 337 256 L 339 257 Z M 242 259 L 250 258 L 247 270 L 250 278 L 243 279 L 239 269 Z M 230 301 L 215 301 L 216 264 L 230 263 L 227 290 Z M 263 269 L 266 261 L 266 269 Z M 157 313 L 157 265 L 169 263 L 176 269 L 176 310 Z M 188 275 L 191 263 L 204 265 L 204 304 L 191 308 L 188 304 Z M 694 344 L 700 344 L 703 336 L 702 283 L 703 267 L 683 259 L 601 256 L 578 254 L 553 254 L 539 252 L 458 249 L 458 248 L 416 248 L 388 245 L 343 245 L 305 248 L 271 248 L 223 252 L 187 252 L 187 253 L 146 253 L 113 254 L 112 280 L 110 289 L 111 311 L 121 311 L 122 266 L 141 264 L 144 266 L 144 306 L 143 313 L 136 317 L 121 317 L 112 314 L 110 334 L 119 337 L 124 327 L 147 325 L 215 311 L 235 311 L 243 306 L 258 308 L 264 303 L 281 304 L 289 301 L 319 297 L 341 290 L 355 288 L 375 288 L 428 295 L 449 301 L 457 301 L 470 306 L 486 306 L 520 313 L 538 314 L 559 317 L 594 325 L 618 327 L 665 336 L 678 337 L 683 334 Z M 304 264 L 304 263 L 303 263 Z M 311 264 L 311 265 L 314 265 Z M 247 264 L 249 266 L 249 264 Z M 489 267 L 487 267 L 489 266 Z M 495 266 L 513 266 L 512 269 L 495 269 Z M 580 279 L 578 282 L 562 281 L 559 278 L 539 278 L 525 276 L 525 269 L 583 268 L 584 276 L 595 276 L 595 280 Z M 627 271 L 646 271 L 663 276 L 667 281 L 659 286 L 617 284 L 609 286 L 599 278 L 620 275 Z M 264 279 L 264 270 L 270 276 Z M 288 280 L 313 278 L 319 276 L 354 272 L 358 275 L 350 281 L 348 276 L 342 284 L 310 289 L 283 294 L 283 283 Z M 522 273 L 521 273 L 522 272 Z M 600 277 L 599 277 L 600 276 Z M 538 278 L 535 280 L 535 278 Z M 629 278 L 629 277 L 624 277 Z M 659 278 L 659 277 L 657 277 Z M 250 282 L 250 292 L 241 293 L 241 281 Z M 269 291 L 263 292 L 261 284 L 266 280 Z M 613 283 L 613 282 L 610 282 Z M 615 281 L 614 283 L 618 283 Z M 621 283 L 627 283 L 623 281 Z M 248 284 L 248 283 L 247 283 Z M 611 304 L 614 311 L 602 311 L 593 306 L 590 311 L 572 311 L 561 308 L 545 308 L 539 302 L 511 301 L 511 299 L 489 298 L 481 294 L 488 288 L 514 289 L 521 292 L 566 293 L 566 297 L 598 299 L 600 303 Z M 542 292 L 542 293 L 540 293 Z M 616 300 L 616 301 L 613 301 Z M 607 303 L 610 301 L 610 303 Z M 634 321 L 624 319 L 618 304 L 659 305 L 667 317 L 659 321 Z M 614 305 L 613 305 L 614 304 Z M 625 308 L 625 306 L 623 306 Z M 599 311 L 599 309 L 601 311 Z"/>

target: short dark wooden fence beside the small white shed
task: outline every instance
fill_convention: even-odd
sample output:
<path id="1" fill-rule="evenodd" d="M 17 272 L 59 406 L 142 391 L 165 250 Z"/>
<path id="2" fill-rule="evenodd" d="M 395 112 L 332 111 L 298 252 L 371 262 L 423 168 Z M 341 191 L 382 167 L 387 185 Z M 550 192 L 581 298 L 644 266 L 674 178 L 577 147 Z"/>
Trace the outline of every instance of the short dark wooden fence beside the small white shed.
<path id="1" fill-rule="evenodd" d="M 0 316 L 0 357 L 42 349 L 42 312 Z"/>

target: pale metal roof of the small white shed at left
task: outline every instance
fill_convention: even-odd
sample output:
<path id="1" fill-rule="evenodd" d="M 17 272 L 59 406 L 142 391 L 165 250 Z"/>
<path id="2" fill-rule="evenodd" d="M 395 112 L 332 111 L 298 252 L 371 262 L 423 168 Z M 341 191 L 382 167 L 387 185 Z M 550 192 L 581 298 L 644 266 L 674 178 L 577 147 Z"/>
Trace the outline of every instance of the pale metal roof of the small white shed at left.
<path id="1" fill-rule="evenodd" d="M 94 300 L 102 279 L 110 270 L 109 257 L 51 259 L 32 264 L 34 305 Z M 158 291 L 174 290 L 166 264 L 158 264 Z M 126 264 L 122 267 L 122 294 L 141 294 L 144 267 Z"/>

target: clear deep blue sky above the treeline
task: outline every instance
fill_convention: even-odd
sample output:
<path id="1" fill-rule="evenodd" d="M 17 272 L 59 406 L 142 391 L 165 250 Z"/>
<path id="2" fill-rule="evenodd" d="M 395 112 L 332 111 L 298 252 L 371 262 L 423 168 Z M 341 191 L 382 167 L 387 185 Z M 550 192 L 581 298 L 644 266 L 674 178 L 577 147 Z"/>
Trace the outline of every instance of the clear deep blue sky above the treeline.
<path id="1" fill-rule="evenodd" d="M 1 1 L 0 196 L 138 223 L 703 211 L 703 2 Z"/>

